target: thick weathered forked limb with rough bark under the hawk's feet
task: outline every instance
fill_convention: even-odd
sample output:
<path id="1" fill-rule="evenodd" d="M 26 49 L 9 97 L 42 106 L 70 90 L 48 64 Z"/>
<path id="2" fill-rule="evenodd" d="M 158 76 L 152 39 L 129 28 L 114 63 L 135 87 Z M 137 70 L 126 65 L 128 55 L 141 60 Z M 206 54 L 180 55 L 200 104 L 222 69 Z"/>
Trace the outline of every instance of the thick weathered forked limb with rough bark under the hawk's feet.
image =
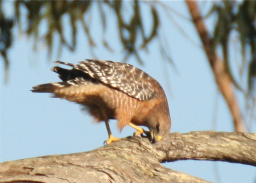
<path id="1" fill-rule="evenodd" d="M 255 152 L 252 133 L 170 133 L 154 144 L 146 137 L 127 137 L 89 152 L 1 163 L 0 182 L 207 182 L 160 163 L 196 159 L 256 166 Z"/>

